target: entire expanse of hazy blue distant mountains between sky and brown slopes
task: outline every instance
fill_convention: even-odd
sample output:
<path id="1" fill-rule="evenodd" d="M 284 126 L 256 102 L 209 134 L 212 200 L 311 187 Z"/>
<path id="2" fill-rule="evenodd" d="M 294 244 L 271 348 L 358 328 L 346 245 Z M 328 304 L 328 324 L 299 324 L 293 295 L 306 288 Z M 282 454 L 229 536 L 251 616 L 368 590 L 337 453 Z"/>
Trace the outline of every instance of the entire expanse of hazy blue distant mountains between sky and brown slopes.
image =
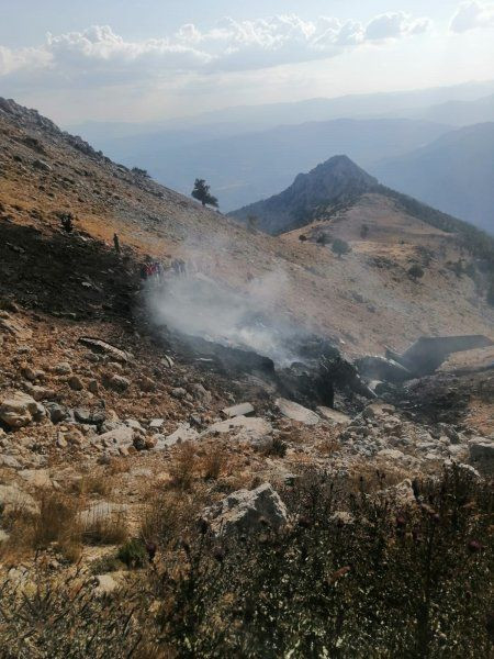
<path id="1" fill-rule="evenodd" d="M 484 122 L 494 122 L 494 80 L 229 108 L 166 122 L 90 122 L 71 131 L 184 194 L 197 177 L 205 178 L 225 212 L 267 199 L 297 172 L 346 154 L 386 185 L 493 232 L 492 142 L 479 144 L 469 131 L 458 138 L 456 131 Z"/>

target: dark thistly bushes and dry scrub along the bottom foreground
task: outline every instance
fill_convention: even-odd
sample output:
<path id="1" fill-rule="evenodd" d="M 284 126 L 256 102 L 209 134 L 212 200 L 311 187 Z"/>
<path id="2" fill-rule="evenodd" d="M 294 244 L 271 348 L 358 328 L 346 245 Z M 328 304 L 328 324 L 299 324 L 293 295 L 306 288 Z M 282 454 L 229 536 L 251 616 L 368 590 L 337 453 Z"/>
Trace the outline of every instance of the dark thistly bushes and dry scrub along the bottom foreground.
<path id="1" fill-rule="evenodd" d="M 489 483 L 450 469 L 405 499 L 310 472 L 281 494 L 280 534 L 158 525 L 160 560 L 114 596 L 4 589 L 5 657 L 489 656 Z"/>

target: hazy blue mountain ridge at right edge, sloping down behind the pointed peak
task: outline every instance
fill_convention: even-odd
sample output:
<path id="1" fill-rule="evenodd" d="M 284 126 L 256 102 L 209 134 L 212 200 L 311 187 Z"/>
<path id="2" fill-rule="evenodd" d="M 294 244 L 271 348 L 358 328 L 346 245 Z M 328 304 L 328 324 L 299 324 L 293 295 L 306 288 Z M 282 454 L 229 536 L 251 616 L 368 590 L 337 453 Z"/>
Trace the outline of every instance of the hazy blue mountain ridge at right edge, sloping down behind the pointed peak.
<path id="1" fill-rule="evenodd" d="M 370 170 L 386 186 L 494 234 L 494 122 L 451 131 Z"/>

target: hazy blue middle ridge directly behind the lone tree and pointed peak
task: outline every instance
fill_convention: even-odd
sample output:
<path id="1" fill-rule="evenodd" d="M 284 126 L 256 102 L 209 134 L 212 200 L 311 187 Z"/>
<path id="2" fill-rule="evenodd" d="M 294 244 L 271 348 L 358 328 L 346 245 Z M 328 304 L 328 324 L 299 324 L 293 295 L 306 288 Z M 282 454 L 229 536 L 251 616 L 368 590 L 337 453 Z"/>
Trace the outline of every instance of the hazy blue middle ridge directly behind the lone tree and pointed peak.
<path id="1" fill-rule="evenodd" d="M 283 190 L 299 171 L 329 155 L 344 153 L 368 167 L 427 144 L 449 129 L 407 119 L 339 119 L 215 139 L 168 133 L 134 136 L 114 141 L 109 153 L 124 165 L 144 167 L 184 194 L 190 194 L 195 176 L 201 176 L 220 199 L 221 209 L 231 211 Z"/>

